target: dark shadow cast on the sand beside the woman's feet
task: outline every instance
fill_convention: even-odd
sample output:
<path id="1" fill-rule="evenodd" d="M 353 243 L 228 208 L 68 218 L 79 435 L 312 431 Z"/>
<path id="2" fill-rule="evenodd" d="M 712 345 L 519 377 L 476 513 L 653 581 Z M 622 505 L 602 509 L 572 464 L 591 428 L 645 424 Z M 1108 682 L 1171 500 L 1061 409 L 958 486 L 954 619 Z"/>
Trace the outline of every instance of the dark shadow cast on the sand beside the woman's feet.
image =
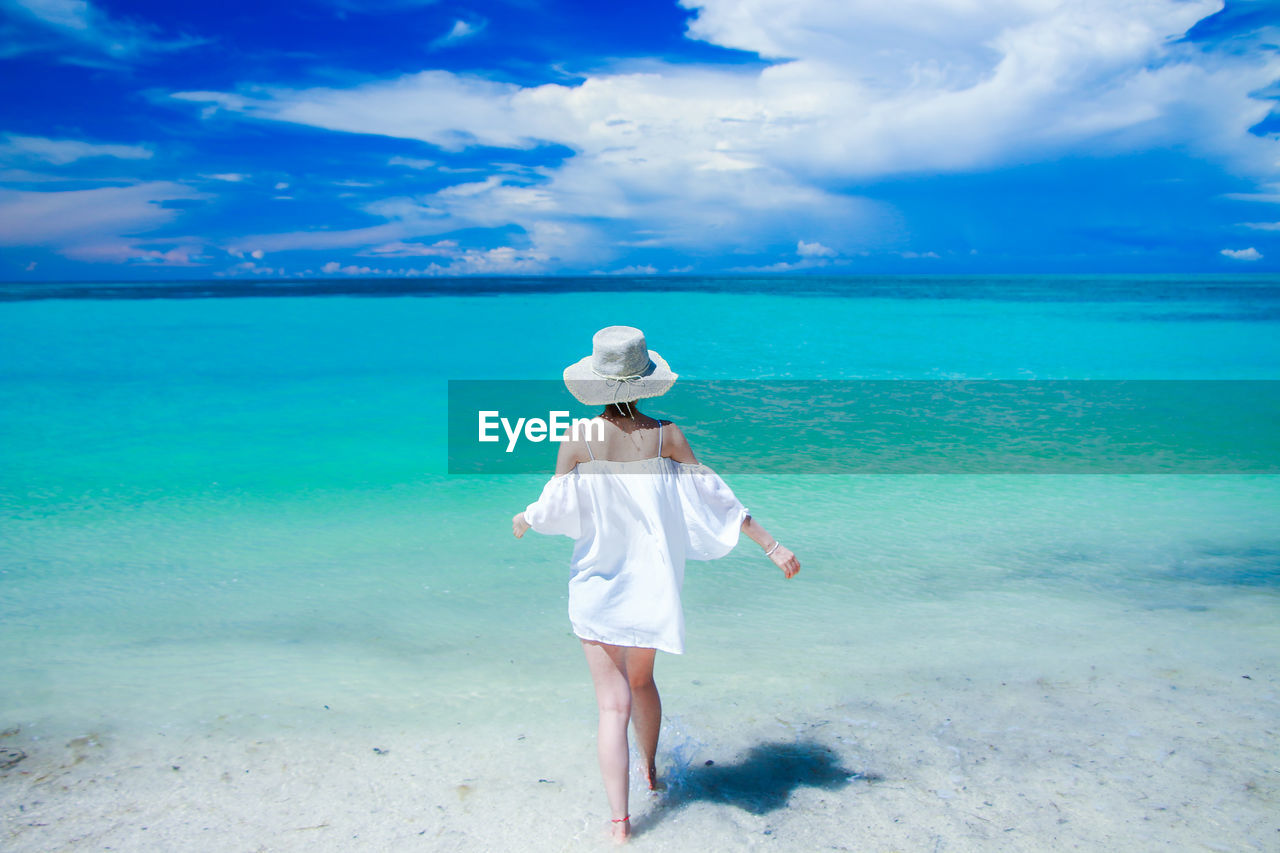
<path id="1" fill-rule="evenodd" d="M 881 780 L 842 767 L 832 749 L 812 740 L 762 743 L 732 765 L 694 766 L 669 780 L 659 808 L 666 812 L 701 800 L 767 815 L 783 808 L 801 785 L 836 790 L 855 779 Z"/>

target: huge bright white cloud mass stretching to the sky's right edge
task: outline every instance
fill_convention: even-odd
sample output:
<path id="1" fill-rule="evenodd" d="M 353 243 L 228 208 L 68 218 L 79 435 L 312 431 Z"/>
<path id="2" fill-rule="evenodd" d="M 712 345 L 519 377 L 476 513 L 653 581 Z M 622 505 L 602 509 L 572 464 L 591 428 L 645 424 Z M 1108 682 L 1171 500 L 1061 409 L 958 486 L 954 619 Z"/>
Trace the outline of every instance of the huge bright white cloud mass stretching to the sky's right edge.
<path id="1" fill-rule="evenodd" d="M 797 229 L 812 238 L 797 243 L 801 263 L 832 257 L 818 254 L 833 251 L 822 241 L 846 255 L 892 251 L 902 237 L 895 211 L 827 188 L 883 175 L 1167 146 L 1260 178 L 1276 168 L 1276 142 L 1248 128 L 1270 110 L 1249 92 L 1280 77 L 1280 58 L 1179 41 L 1217 0 L 685 5 L 696 13 L 691 37 L 778 61 L 654 61 L 539 86 L 428 70 L 346 88 L 173 97 L 447 151 L 566 146 L 572 156 L 532 177 L 494 164 L 479 181 L 366 207 L 383 225 L 274 236 L 279 247 L 367 247 L 517 225 L 530 256 L 561 266 L 607 264 L 611 246 L 760 251 Z"/>

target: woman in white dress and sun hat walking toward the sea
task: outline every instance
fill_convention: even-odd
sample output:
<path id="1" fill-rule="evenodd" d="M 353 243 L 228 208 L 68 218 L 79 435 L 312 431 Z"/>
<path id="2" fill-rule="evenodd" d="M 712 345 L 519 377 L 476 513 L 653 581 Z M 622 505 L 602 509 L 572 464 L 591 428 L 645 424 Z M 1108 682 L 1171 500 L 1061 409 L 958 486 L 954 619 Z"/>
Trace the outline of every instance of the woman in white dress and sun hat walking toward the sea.
<path id="1" fill-rule="evenodd" d="M 628 721 L 645 781 L 650 790 L 658 788 L 662 699 L 653 662 L 659 649 L 684 653 L 685 560 L 722 557 L 742 532 L 785 576 L 800 571 L 795 555 L 698 461 L 678 426 L 632 405 L 666 393 L 676 378 L 640 329 L 611 325 L 596 332 L 591 355 L 566 368 L 564 384 L 579 401 L 604 406 L 603 439 L 575 435 L 561 442 L 556 475 L 538 501 L 512 519 L 517 539 L 531 528 L 575 540 L 570 621 L 595 684 L 600 772 L 618 841 L 631 833 Z M 589 433 L 598 435 L 596 429 Z"/>

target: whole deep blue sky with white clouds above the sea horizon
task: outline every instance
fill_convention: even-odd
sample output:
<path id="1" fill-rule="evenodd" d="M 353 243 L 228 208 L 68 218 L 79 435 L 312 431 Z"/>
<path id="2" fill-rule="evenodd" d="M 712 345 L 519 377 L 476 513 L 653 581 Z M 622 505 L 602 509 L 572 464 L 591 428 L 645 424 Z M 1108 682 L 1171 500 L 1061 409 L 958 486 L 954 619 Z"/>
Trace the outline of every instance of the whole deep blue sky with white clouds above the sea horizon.
<path id="1" fill-rule="evenodd" d="M 1275 0 L 0 0 L 0 278 L 1275 272 Z"/>

